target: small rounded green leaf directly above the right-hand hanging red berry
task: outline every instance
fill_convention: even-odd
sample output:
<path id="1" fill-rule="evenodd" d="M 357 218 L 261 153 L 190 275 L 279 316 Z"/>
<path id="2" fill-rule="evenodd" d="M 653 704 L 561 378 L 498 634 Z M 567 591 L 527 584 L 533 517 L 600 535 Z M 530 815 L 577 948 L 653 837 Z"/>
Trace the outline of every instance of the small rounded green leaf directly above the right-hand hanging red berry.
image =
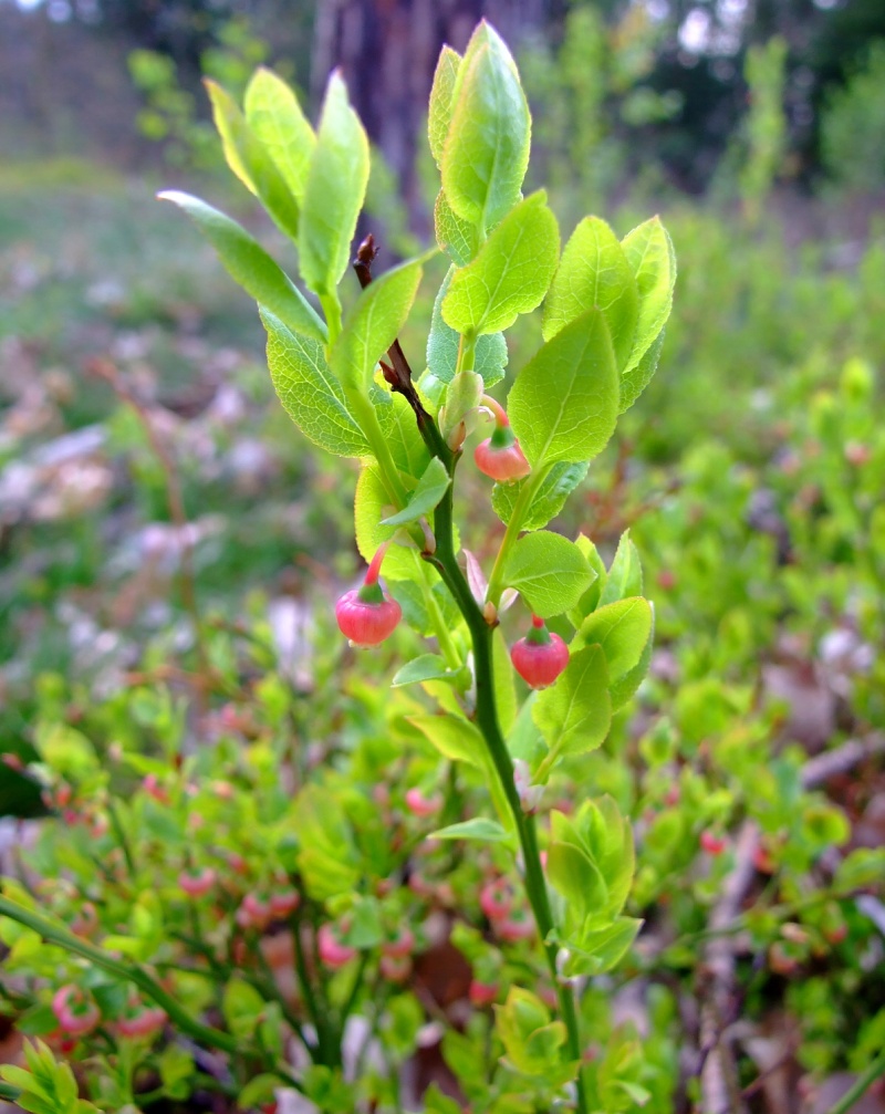
<path id="1" fill-rule="evenodd" d="M 507 555 L 504 584 L 515 588 L 535 615 L 551 618 L 574 607 L 590 586 L 586 558 L 560 534 L 538 530 L 519 538 Z"/>

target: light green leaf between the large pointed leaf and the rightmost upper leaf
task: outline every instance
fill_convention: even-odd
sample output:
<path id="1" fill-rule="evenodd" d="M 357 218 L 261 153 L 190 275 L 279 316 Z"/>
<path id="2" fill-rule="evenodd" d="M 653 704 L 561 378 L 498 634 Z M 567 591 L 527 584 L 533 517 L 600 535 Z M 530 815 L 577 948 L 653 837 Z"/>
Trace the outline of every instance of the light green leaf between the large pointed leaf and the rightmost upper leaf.
<path id="1" fill-rule="evenodd" d="M 604 314 L 615 362 L 624 368 L 636 333 L 639 289 L 615 234 L 604 221 L 587 216 L 565 245 L 544 303 L 544 340 L 594 307 Z"/>

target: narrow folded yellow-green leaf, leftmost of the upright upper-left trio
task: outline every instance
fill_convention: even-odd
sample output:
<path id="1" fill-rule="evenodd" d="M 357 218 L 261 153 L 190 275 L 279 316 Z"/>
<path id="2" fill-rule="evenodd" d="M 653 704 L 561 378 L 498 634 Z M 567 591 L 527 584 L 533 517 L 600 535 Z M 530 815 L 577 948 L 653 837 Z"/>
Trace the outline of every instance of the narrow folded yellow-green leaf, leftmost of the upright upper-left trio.
<path id="1" fill-rule="evenodd" d="M 252 131 L 230 94 L 210 78 L 204 80 L 215 126 L 222 137 L 227 165 L 273 217 L 278 227 L 298 240 L 299 207 L 270 153 Z"/>

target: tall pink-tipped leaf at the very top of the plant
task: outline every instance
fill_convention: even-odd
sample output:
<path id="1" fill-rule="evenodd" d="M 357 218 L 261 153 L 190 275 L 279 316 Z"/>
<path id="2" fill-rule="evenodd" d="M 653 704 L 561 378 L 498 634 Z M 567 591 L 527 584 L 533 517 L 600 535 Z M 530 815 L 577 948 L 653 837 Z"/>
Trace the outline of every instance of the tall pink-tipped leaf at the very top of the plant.
<path id="1" fill-rule="evenodd" d="M 480 231 L 519 199 L 532 121 L 509 51 L 485 20 L 458 68 L 442 153 L 442 188 L 453 211 Z"/>

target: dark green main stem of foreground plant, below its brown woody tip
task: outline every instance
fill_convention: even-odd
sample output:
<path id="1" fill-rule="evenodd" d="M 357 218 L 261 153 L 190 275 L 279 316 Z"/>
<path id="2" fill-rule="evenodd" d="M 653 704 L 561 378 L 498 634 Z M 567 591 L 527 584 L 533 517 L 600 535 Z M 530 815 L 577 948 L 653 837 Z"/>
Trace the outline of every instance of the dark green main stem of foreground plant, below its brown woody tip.
<path id="1" fill-rule="evenodd" d="M 531 482 L 531 481 L 529 481 Z M 526 485 L 528 486 L 528 485 Z M 516 519 L 516 508 L 513 519 Z M 436 509 L 435 530 L 437 549 L 427 559 L 438 569 L 445 580 L 470 632 L 474 646 L 474 667 L 476 676 L 476 724 L 483 733 L 489 755 L 500 781 L 504 795 L 513 814 L 514 824 L 519 837 L 519 846 L 525 863 L 525 889 L 532 912 L 541 935 L 544 954 L 547 958 L 553 984 L 560 1004 L 560 1015 L 565 1024 L 567 1054 L 573 1061 L 581 1059 L 581 1037 L 578 1033 L 577 1012 L 572 988 L 560 981 L 556 970 L 556 944 L 548 937 L 553 932 L 553 913 L 551 912 L 547 886 L 538 854 L 537 834 L 534 818 L 526 815 L 519 802 L 519 794 L 514 782 L 513 762 L 507 744 L 498 723 L 495 706 L 495 686 L 493 675 L 493 641 L 492 627 L 474 599 L 469 585 L 455 559 L 453 541 L 451 486 L 449 486 L 441 502 Z M 518 528 L 517 528 L 518 532 Z M 586 1094 L 581 1074 L 577 1076 L 577 1112 L 587 1114 Z"/>

